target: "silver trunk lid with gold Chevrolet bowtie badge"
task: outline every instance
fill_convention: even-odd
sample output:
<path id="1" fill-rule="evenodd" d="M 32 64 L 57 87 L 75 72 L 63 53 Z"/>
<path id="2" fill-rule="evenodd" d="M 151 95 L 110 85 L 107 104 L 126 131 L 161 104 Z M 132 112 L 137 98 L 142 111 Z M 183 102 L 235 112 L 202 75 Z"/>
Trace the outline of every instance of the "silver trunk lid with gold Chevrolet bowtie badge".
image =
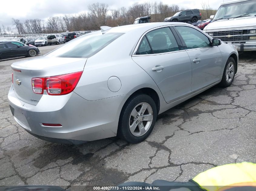
<path id="1" fill-rule="evenodd" d="M 83 71 L 86 58 L 58 58 L 44 56 L 15 62 L 13 69 L 13 87 L 16 96 L 32 105 L 36 105 L 42 94 L 35 94 L 32 90 L 32 78 L 42 78 Z M 46 92 L 44 92 L 46 94 Z"/>

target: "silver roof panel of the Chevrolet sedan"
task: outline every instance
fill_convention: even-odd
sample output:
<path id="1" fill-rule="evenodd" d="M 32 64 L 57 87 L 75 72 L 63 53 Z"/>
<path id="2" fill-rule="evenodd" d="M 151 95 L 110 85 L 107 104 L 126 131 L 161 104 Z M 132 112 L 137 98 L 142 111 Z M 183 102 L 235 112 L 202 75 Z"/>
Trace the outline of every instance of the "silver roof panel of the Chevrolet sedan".
<path id="1" fill-rule="evenodd" d="M 133 30 L 147 31 L 155 27 L 168 26 L 172 24 L 178 24 L 178 22 L 154 22 L 154 23 L 130 24 L 130 25 L 123 25 L 119 27 L 112 27 L 111 29 L 106 30 L 106 32 L 128 33 L 129 31 L 133 31 Z M 192 26 L 191 24 L 187 24 L 187 23 L 180 23 L 180 24 Z"/>

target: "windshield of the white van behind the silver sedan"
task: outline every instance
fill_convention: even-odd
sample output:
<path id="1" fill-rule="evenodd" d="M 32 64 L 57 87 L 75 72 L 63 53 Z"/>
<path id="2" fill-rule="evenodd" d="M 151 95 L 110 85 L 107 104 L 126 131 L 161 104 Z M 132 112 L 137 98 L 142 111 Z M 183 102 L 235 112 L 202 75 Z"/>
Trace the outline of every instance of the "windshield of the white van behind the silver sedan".
<path id="1" fill-rule="evenodd" d="M 237 3 L 227 4 L 227 5 L 221 5 L 213 20 L 217 20 L 221 18 L 234 18 L 240 15 L 248 16 L 251 14 L 256 14 L 255 1 L 251 0 L 251 1 L 237 2 Z"/>

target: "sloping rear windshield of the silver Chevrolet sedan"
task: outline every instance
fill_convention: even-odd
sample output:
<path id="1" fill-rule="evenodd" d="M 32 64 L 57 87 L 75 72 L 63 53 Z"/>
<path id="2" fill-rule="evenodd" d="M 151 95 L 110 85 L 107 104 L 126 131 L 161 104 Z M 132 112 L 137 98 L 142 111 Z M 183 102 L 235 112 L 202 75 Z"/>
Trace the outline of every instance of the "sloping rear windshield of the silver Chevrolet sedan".
<path id="1" fill-rule="evenodd" d="M 60 46 L 47 56 L 64 58 L 89 58 L 105 46 L 120 37 L 123 33 L 104 33 L 101 31 L 81 36 Z"/>

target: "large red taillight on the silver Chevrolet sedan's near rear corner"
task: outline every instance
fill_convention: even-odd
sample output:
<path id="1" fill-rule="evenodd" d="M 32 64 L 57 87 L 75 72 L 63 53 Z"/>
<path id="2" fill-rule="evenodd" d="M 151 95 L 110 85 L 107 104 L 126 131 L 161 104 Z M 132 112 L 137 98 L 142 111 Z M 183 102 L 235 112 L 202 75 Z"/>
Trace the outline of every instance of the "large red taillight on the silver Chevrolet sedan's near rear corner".
<path id="1" fill-rule="evenodd" d="M 52 77 L 32 78 L 33 92 L 36 94 L 43 94 L 43 91 L 46 90 L 48 95 L 69 94 L 75 89 L 82 73 L 83 72 L 81 71 Z M 40 82 L 42 82 L 42 84 Z M 43 87 L 41 92 L 39 89 L 40 87 Z"/>

